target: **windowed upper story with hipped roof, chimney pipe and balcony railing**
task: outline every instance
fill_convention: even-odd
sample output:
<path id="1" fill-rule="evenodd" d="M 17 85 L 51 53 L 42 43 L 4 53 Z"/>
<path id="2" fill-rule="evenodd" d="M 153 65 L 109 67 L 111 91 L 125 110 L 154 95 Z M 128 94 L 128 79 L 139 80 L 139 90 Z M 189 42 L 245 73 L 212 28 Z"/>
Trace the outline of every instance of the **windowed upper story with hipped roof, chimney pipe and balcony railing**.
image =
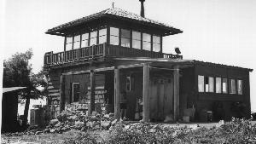
<path id="1" fill-rule="evenodd" d="M 162 52 L 162 37 L 182 31 L 144 17 L 144 0 L 140 2 L 141 15 L 111 8 L 49 29 L 47 34 L 65 37 L 65 42 L 62 52 L 44 55 L 44 66 L 112 57 L 182 59 Z"/>

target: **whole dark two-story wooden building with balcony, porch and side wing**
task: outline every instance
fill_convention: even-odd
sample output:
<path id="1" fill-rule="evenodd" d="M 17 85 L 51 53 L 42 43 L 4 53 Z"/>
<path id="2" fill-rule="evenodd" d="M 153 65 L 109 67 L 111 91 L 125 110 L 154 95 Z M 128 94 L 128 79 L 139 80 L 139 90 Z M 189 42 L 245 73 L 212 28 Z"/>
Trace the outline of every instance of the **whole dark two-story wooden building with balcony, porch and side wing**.
<path id="1" fill-rule="evenodd" d="M 250 117 L 251 69 L 163 53 L 162 37 L 181 30 L 123 9 L 105 9 L 49 29 L 65 37 L 62 52 L 44 55 L 49 104 L 108 106 L 120 117 L 120 95 L 127 95 L 127 117 L 145 121 L 183 118 L 195 108 L 195 120 Z M 51 100 L 51 102 L 50 102 Z M 142 106 L 143 108 L 139 108 Z M 112 107 L 112 108 L 111 108 Z"/>

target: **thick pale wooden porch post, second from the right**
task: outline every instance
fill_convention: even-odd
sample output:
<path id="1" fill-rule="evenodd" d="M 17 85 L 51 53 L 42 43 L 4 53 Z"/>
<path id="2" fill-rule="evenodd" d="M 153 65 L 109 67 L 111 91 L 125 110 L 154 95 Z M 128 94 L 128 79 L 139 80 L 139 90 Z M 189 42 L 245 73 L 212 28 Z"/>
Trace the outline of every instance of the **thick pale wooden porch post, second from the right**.
<path id="1" fill-rule="evenodd" d="M 149 66 L 143 66 L 143 121 L 149 121 Z"/>

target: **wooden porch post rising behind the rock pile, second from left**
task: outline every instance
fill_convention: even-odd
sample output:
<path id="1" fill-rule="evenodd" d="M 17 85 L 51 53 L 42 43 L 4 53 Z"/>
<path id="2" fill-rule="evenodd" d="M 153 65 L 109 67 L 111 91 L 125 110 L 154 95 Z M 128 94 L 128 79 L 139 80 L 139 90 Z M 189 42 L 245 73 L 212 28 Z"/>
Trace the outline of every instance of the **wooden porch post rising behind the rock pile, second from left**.
<path id="1" fill-rule="evenodd" d="M 89 114 L 95 111 L 95 72 L 90 71 L 90 109 Z"/>

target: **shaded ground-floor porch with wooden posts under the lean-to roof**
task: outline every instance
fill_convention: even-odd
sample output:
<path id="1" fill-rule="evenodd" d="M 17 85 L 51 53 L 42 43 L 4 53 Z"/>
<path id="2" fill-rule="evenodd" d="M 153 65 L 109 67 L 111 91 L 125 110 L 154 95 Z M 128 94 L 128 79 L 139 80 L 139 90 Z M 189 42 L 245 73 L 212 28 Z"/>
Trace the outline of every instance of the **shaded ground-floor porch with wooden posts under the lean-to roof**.
<path id="1" fill-rule="evenodd" d="M 105 79 L 99 80 L 99 75 L 104 75 Z M 72 79 L 67 81 L 69 77 Z M 154 63 L 145 62 L 62 73 L 61 110 L 64 110 L 67 99 L 70 101 L 71 94 L 68 95 L 67 91 L 71 89 L 67 87 L 78 83 L 79 80 L 81 83 L 86 81 L 86 84 L 81 84 L 79 89 L 84 91 L 79 91 L 79 95 L 90 97 L 87 99 L 89 101 L 84 101 L 89 105 L 89 113 L 96 110 L 96 100 L 99 97 L 96 96 L 98 94 L 96 89 L 99 87 L 99 81 L 104 81 L 102 85 L 108 97 L 104 97 L 103 102 L 108 101 L 108 104 L 113 105 L 114 117 L 117 119 L 121 118 L 120 97 L 123 91 L 127 95 L 127 118 L 129 119 L 139 120 L 137 114 L 142 114 L 140 116 L 146 122 L 163 121 L 168 115 L 172 115 L 174 121 L 179 118 L 179 66 L 177 65 L 162 68 L 159 64 L 157 66 Z M 139 100 L 142 101 L 139 102 Z"/>

